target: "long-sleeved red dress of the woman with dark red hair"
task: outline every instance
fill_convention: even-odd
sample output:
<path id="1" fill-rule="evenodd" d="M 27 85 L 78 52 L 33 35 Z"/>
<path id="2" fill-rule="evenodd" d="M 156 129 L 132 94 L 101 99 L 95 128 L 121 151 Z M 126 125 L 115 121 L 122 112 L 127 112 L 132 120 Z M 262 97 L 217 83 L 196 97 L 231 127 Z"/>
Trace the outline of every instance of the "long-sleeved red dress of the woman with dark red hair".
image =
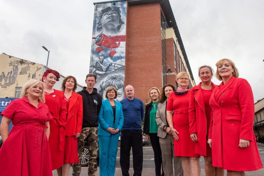
<path id="1" fill-rule="evenodd" d="M 45 95 L 45 100 L 45 104 L 48 105 L 49 111 L 53 116 L 53 119 L 50 121 L 49 147 L 52 170 L 54 170 L 63 165 L 65 140 L 64 129 L 67 124 L 67 110 L 61 91 L 54 89 L 53 93 Z"/>

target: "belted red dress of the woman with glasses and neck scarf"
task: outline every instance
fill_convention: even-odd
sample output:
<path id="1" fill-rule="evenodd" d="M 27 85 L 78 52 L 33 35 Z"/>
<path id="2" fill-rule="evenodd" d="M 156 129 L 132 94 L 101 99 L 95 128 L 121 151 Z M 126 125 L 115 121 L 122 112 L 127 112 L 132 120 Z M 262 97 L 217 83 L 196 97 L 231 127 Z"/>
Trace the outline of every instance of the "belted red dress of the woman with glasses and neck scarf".
<path id="1" fill-rule="evenodd" d="M 189 134 L 189 97 L 190 91 L 182 95 L 171 93 L 167 102 L 167 111 L 173 112 L 173 127 L 179 132 L 178 140 L 174 139 L 175 156 L 200 157 L 194 153 L 195 143 Z"/>

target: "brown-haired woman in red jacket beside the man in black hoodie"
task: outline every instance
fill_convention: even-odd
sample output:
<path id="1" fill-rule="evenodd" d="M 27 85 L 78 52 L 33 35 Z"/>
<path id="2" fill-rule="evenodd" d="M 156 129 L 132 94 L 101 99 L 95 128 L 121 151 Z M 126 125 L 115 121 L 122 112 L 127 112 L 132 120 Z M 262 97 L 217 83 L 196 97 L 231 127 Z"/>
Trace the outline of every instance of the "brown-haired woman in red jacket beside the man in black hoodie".
<path id="1" fill-rule="evenodd" d="M 77 139 L 82 132 L 83 102 L 82 96 L 75 93 L 77 81 L 67 76 L 62 82 L 62 93 L 67 108 L 67 125 L 65 127 L 64 164 L 62 175 L 69 175 L 70 164 L 78 163 Z"/>

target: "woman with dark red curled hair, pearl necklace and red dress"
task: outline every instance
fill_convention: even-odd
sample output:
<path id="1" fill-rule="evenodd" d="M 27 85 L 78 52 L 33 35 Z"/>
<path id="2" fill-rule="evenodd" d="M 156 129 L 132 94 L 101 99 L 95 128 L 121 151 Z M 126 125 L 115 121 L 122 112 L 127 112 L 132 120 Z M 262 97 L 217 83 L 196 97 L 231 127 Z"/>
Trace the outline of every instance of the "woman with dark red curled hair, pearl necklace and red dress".
<path id="1" fill-rule="evenodd" d="M 52 69 L 46 70 L 42 77 L 42 81 L 45 84 L 45 104 L 48 105 L 49 111 L 53 116 L 53 120 L 50 121 L 49 138 L 52 170 L 58 169 L 63 165 L 65 138 L 64 129 L 67 123 L 67 109 L 63 93 L 53 89 L 54 84 L 59 80 L 59 78 L 59 72 Z M 58 175 L 60 174 L 60 170 L 61 169 L 57 170 Z"/>

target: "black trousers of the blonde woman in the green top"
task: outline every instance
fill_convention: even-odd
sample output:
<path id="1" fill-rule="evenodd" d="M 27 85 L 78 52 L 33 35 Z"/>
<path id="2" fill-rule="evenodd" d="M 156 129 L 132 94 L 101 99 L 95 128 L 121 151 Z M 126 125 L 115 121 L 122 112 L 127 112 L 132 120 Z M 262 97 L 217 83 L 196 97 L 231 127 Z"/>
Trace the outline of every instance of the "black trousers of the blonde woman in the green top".
<path id="1" fill-rule="evenodd" d="M 162 158 L 161 158 L 161 146 L 159 145 L 159 137 L 157 136 L 157 133 L 150 133 L 150 142 L 154 151 L 154 162 L 155 162 L 155 172 L 156 175 L 161 175 L 161 169 L 162 169 L 162 175 L 163 168 L 162 168 Z"/>

